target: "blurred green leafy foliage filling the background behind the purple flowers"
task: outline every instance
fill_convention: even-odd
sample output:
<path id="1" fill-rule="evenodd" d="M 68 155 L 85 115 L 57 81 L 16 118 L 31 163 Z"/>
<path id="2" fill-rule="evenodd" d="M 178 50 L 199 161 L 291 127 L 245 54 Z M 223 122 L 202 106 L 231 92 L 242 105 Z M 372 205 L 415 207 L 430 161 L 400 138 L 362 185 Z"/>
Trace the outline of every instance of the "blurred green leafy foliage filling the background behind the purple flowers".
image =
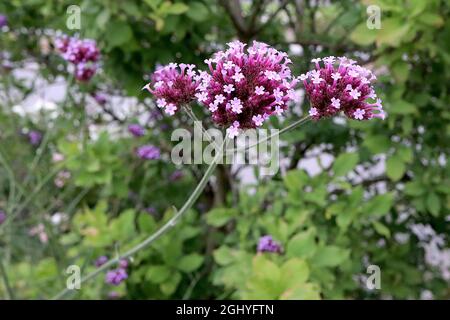
<path id="1" fill-rule="evenodd" d="M 73 4 L 81 30 L 66 27 Z M 369 5 L 381 8 L 381 29 L 367 28 Z M 450 298 L 449 12 L 444 0 L 2 1 L 0 297 L 50 298 L 65 287 L 68 265 L 93 271 L 98 256 L 124 252 L 172 216 L 206 168 L 170 162 L 171 129 L 190 122 L 155 113 L 140 89 L 158 64 L 204 66 L 227 41 L 256 39 L 288 52 L 295 75 L 312 57 L 358 60 L 378 76 L 387 119 L 330 119 L 283 136 L 284 165 L 273 177 L 253 168 L 248 182 L 243 168 L 219 166 L 176 229 L 133 257 L 125 282 L 114 287 L 102 275 L 72 297 Z M 55 53 L 61 34 L 97 41 L 101 71 L 89 83 L 74 82 Z M 39 81 L 68 85 L 57 89 L 58 115 L 14 112 Z M 96 92 L 109 100 L 91 114 Z M 132 97 L 135 107 L 117 114 L 112 97 Z M 145 136 L 126 133 L 148 114 Z M 39 146 L 29 130 L 42 132 Z M 162 158 L 138 159 L 144 143 Z M 64 160 L 52 161 L 55 153 Z M 316 172 L 302 165 L 308 159 Z M 57 187 L 62 171 L 70 177 Z M 282 254 L 256 253 L 264 234 Z M 380 290 L 366 288 L 370 264 L 381 269 Z"/>

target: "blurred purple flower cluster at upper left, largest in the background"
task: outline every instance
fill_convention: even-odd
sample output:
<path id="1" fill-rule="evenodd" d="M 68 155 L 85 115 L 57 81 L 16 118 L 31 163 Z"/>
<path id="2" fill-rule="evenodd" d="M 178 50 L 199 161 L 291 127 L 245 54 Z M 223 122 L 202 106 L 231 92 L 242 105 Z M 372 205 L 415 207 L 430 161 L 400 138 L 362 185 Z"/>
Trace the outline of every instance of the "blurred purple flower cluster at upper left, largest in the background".
<path id="1" fill-rule="evenodd" d="M 98 69 L 100 50 L 91 39 L 78 39 L 64 36 L 55 40 L 55 46 L 64 60 L 75 65 L 75 78 L 89 81 Z"/>

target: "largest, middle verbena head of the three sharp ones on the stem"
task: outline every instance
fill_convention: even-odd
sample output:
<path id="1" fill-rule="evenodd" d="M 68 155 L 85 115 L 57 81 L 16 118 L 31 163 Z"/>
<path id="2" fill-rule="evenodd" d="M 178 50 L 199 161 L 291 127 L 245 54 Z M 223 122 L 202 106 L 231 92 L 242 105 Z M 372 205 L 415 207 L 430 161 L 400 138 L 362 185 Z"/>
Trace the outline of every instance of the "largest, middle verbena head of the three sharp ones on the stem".
<path id="1" fill-rule="evenodd" d="M 235 137 L 242 129 L 261 126 L 271 115 L 280 115 L 294 97 L 287 54 L 261 42 L 228 43 L 213 59 L 205 60 L 209 72 L 200 72 L 197 100 L 212 112 L 212 119 L 228 127 Z"/>

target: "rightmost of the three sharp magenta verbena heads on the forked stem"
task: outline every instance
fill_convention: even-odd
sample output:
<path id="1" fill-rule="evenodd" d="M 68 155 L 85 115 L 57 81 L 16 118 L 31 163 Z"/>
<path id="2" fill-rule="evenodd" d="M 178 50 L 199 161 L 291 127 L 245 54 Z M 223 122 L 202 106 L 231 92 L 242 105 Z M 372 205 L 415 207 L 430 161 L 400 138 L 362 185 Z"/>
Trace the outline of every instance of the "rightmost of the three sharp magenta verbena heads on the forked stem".
<path id="1" fill-rule="evenodd" d="M 311 103 L 309 115 L 314 120 L 340 111 L 354 120 L 385 118 L 381 100 L 371 85 L 376 76 L 370 70 L 346 57 L 316 58 L 312 62 L 315 70 L 299 78 Z"/>

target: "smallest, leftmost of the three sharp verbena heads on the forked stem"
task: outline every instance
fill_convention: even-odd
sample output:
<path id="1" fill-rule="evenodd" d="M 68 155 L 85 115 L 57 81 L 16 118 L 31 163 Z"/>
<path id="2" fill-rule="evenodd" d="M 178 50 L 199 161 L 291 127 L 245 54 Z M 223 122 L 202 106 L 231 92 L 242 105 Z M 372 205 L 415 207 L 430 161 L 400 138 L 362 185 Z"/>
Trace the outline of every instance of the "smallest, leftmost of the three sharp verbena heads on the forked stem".
<path id="1" fill-rule="evenodd" d="M 148 90 L 156 98 L 156 105 L 169 115 L 174 115 L 183 105 L 195 99 L 198 81 L 195 65 L 170 63 L 156 70 L 151 82 L 143 89 Z"/>

